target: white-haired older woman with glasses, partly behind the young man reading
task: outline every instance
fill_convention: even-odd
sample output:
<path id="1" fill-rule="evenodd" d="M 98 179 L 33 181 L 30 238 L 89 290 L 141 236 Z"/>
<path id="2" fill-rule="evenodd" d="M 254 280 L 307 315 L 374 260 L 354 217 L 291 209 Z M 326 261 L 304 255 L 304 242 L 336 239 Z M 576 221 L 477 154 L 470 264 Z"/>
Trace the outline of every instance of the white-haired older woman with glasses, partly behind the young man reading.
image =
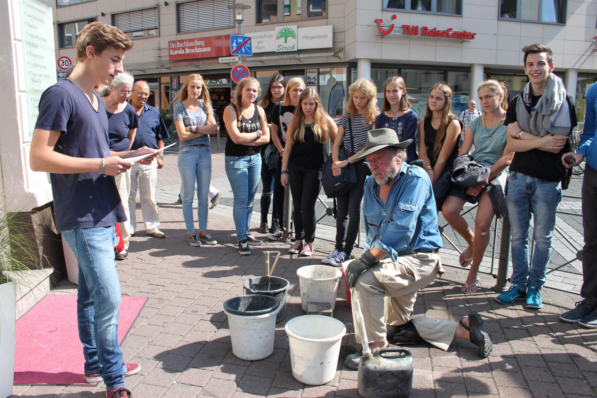
<path id="1" fill-rule="evenodd" d="M 109 86 L 104 86 L 100 93 L 108 117 L 110 150 L 116 152 L 130 150 L 139 124 L 139 116 L 137 116 L 134 107 L 127 102 L 127 98 L 131 95 L 133 81 L 133 76 L 130 73 L 118 73 L 112 83 Z M 131 190 L 131 169 L 116 175 L 115 181 L 124 214 L 127 216 L 127 221 L 119 223 L 124 249 L 116 254 L 116 260 L 124 260 L 128 255 L 128 238 L 133 233 L 129 222 L 131 217 L 128 208 L 128 195 Z"/>

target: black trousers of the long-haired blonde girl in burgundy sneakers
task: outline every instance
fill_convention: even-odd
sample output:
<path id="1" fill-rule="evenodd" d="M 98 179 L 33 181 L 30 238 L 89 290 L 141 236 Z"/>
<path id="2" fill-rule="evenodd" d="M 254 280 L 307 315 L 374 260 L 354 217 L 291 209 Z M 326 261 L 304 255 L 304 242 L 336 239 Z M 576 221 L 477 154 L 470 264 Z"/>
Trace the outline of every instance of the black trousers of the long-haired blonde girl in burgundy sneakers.
<path id="1" fill-rule="evenodd" d="M 288 163 L 288 184 L 293 196 L 294 232 L 297 240 L 315 240 L 315 203 L 321 189 L 321 170 Z"/>

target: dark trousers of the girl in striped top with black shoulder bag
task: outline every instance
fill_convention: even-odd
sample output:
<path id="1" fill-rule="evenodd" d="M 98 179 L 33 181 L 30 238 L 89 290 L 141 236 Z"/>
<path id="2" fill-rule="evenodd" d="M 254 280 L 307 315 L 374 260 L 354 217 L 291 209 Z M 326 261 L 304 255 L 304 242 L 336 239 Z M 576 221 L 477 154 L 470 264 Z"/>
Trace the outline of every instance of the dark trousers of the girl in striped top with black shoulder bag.
<path id="1" fill-rule="evenodd" d="M 336 214 L 336 249 L 344 251 L 347 255 L 352 253 L 356 236 L 359 233 L 361 221 L 361 202 L 365 188 L 365 179 L 371 175 L 369 166 L 365 162 L 356 162 L 356 186 L 346 193 L 338 196 Z"/>

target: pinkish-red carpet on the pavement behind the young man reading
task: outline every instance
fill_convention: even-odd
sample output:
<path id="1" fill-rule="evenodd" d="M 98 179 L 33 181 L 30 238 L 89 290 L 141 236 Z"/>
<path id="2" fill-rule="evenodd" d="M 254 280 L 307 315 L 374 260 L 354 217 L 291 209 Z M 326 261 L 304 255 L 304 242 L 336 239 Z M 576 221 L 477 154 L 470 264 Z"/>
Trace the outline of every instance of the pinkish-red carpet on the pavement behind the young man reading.
<path id="1" fill-rule="evenodd" d="M 143 308 L 146 297 L 122 297 L 118 342 Z M 76 296 L 47 295 L 17 320 L 14 384 L 88 385 L 76 321 Z"/>

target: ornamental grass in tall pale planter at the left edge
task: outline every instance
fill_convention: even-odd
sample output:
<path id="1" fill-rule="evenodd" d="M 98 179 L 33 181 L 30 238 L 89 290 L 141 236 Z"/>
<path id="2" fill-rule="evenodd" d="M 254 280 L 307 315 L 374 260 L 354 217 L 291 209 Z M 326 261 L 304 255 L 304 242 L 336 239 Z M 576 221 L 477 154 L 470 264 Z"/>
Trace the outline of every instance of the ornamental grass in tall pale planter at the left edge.
<path id="1" fill-rule="evenodd" d="M 17 286 L 27 287 L 27 271 L 38 262 L 29 226 L 0 208 L 0 398 L 13 394 Z"/>

